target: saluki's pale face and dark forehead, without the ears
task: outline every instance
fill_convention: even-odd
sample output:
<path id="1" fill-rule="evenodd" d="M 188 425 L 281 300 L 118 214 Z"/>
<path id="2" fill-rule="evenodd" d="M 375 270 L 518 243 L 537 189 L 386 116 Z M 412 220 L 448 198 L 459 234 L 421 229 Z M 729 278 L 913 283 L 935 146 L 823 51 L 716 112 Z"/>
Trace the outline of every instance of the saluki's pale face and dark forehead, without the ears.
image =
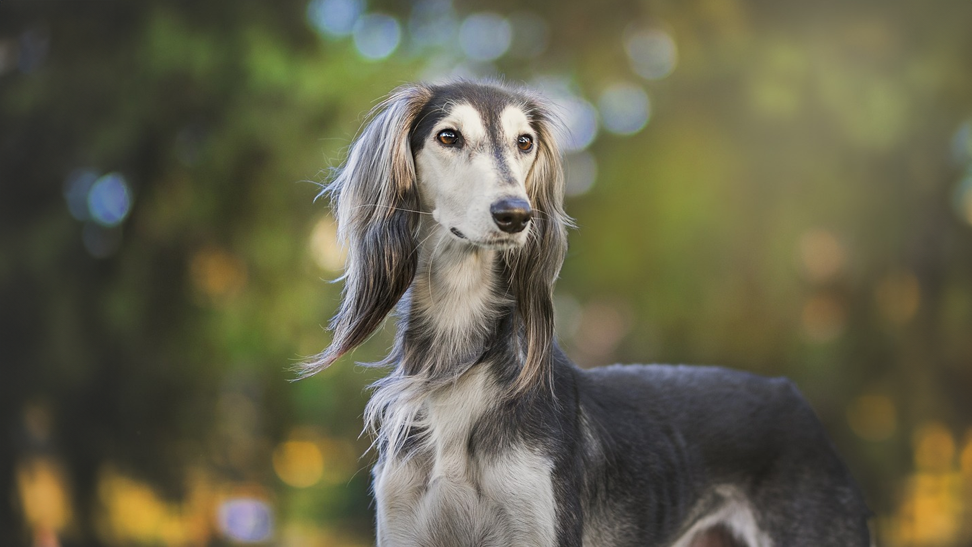
<path id="1" fill-rule="evenodd" d="M 434 91 L 409 142 L 422 206 L 452 237 L 499 249 L 526 242 L 534 215 L 526 185 L 541 146 L 536 118 L 527 97 L 501 88 Z"/>

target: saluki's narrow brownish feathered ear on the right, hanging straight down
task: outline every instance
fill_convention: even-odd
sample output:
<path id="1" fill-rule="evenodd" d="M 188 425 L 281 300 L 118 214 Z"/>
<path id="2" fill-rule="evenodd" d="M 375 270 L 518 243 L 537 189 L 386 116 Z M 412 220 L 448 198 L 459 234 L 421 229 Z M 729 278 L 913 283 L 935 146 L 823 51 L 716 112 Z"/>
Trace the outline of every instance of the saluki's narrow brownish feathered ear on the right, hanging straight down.
<path id="1" fill-rule="evenodd" d="M 567 229 L 573 220 L 564 211 L 564 169 L 550 111 L 528 105 L 537 131 L 537 160 L 527 177 L 534 220 L 527 243 L 506 255 L 509 284 L 526 336 L 526 360 L 512 392 L 522 393 L 549 379 L 553 357 L 553 284 L 567 254 Z"/>

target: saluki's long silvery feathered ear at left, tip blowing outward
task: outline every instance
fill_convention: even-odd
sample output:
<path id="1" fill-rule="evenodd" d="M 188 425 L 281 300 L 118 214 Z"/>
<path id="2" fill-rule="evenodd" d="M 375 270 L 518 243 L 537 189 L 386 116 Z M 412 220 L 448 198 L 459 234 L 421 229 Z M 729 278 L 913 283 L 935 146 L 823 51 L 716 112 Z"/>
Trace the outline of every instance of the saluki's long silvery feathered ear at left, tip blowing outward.
<path id="1" fill-rule="evenodd" d="M 299 367 L 301 377 L 360 346 L 398 304 L 415 276 L 419 198 L 409 133 L 431 92 L 404 86 L 372 111 L 329 195 L 347 245 L 341 306 L 330 346 Z"/>

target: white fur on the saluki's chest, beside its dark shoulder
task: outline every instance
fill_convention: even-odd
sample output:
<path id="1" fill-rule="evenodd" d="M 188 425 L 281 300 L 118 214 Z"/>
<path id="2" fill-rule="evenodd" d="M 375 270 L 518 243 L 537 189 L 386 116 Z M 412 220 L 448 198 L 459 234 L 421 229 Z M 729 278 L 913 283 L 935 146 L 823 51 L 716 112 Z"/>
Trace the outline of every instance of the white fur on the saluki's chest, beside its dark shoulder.
<path id="1" fill-rule="evenodd" d="M 469 453 L 473 426 L 499 400 L 484 366 L 425 399 L 422 448 L 374 469 L 378 545 L 555 544 L 550 461 L 526 446 Z"/>

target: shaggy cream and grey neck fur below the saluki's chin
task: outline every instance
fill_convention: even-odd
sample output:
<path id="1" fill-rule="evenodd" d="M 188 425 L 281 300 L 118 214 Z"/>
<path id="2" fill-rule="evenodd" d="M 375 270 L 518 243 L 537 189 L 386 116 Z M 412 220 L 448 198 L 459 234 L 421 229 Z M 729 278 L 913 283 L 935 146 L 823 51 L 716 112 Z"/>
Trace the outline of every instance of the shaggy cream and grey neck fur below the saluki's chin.
<path id="1" fill-rule="evenodd" d="M 503 253 L 456 240 L 424 223 L 415 279 L 399 303 L 398 334 L 380 364 L 393 372 L 372 384 L 365 426 L 385 454 L 397 454 L 425 425 L 429 397 L 470 369 L 490 366 L 511 383 L 525 358 L 523 329 L 504 282 Z"/>

